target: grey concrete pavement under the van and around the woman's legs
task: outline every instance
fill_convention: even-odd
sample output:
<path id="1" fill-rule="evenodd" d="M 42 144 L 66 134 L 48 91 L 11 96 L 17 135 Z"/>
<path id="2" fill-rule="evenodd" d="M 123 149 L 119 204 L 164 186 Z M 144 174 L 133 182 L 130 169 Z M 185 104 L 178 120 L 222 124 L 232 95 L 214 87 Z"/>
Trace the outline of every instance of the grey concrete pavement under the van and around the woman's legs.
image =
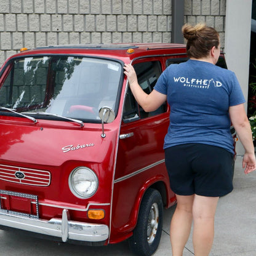
<path id="1" fill-rule="evenodd" d="M 175 206 L 164 210 L 164 226 L 153 256 L 172 256 L 169 225 Z M 127 241 L 103 247 L 75 246 L 22 236 L 0 230 L 0 255 L 132 256 Z M 190 236 L 183 256 L 192 256 Z M 256 256 L 256 172 L 245 175 L 242 156 L 237 156 L 234 190 L 220 198 L 215 217 L 215 239 L 209 256 Z"/>

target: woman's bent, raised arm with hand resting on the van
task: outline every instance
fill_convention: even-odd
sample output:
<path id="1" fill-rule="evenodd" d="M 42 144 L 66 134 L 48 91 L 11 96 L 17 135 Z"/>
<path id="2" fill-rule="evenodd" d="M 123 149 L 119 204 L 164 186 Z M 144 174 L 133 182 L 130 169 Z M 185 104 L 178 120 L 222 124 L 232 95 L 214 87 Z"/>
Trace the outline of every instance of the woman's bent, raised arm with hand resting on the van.
<path id="1" fill-rule="evenodd" d="M 146 112 L 157 110 L 162 103 L 166 102 L 166 95 L 153 90 L 150 94 L 146 94 L 142 87 L 138 84 L 137 75 L 134 67 L 130 64 L 124 65 L 124 74 L 126 74 L 129 81 L 130 90 L 137 100 L 138 104 L 142 106 Z"/>

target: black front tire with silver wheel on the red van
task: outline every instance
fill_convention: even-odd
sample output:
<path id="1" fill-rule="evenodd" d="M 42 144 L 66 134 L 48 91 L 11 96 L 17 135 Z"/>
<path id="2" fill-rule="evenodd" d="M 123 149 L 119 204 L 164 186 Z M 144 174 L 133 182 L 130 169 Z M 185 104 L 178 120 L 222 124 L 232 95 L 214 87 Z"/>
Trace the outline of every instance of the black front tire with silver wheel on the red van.
<path id="1" fill-rule="evenodd" d="M 162 234 L 163 206 L 158 190 L 149 188 L 142 199 L 137 226 L 129 238 L 130 250 L 135 255 L 150 256 L 158 249 Z"/>

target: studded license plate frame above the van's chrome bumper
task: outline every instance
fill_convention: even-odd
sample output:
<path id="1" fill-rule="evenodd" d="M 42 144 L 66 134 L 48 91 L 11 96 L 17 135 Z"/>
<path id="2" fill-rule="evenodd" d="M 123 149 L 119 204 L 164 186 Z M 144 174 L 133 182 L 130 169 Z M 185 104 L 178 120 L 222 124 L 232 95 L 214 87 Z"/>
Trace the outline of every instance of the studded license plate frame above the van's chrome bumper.
<path id="1" fill-rule="evenodd" d="M 26 199 L 30 202 L 30 204 L 35 204 L 35 206 L 36 206 L 35 212 L 30 214 L 28 212 L 22 212 L 22 209 L 17 211 L 17 210 L 13 210 L 11 207 L 4 207 L 4 204 L 2 202 L 4 199 L 7 200 L 7 198 L 9 198 L 9 197 L 15 198 L 16 201 L 18 199 L 20 199 L 21 201 Z M 26 194 L 26 193 L 14 192 L 14 191 L 0 190 L 0 213 L 1 212 L 3 214 L 8 214 L 8 215 L 39 219 L 38 196 L 36 196 L 34 194 Z"/>

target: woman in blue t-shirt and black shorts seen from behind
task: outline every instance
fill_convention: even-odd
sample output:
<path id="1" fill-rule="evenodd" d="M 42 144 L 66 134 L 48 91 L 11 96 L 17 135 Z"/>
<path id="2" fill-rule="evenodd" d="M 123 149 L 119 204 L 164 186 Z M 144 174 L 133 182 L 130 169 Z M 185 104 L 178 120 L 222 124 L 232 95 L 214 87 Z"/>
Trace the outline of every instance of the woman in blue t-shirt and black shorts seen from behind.
<path id="1" fill-rule="evenodd" d="M 206 256 L 214 239 L 218 198 L 233 190 L 230 122 L 245 149 L 244 172 L 255 170 L 256 162 L 241 87 L 233 72 L 215 66 L 220 55 L 217 31 L 204 24 L 186 24 L 182 31 L 190 59 L 170 65 L 151 94 L 138 85 L 132 65 L 124 66 L 124 74 L 145 111 L 156 110 L 166 100 L 170 105 L 164 150 L 170 187 L 177 196 L 170 225 L 172 255 L 182 256 L 194 222 L 194 254 Z"/>

